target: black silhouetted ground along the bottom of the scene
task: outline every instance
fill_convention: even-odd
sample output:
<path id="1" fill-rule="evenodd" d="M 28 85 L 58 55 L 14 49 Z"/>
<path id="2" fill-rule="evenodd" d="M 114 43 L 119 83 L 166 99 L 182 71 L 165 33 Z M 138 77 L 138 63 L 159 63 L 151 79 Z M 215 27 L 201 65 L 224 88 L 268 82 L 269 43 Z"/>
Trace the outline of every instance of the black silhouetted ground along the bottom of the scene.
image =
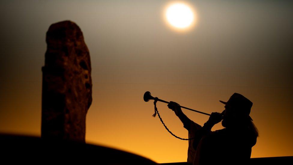
<path id="1" fill-rule="evenodd" d="M 93 164 L 157 164 L 152 160 L 113 148 L 74 141 L 44 140 L 40 137 L 0 134 L 2 162 L 11 163 L 93 163 Z M 293 156 L 251 158 L 251 165 L 291 164 Z M 183 165 L 162 163 L 164 165 Z M 239 164 L 239 162 L 235 162 Z"/>

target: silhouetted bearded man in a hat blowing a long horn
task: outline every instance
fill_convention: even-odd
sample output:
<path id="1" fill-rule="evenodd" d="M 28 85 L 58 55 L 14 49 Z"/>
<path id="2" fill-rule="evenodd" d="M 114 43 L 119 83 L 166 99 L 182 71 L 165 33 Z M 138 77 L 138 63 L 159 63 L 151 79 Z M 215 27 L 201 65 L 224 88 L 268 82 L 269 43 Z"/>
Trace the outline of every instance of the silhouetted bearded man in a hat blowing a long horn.
<path id="1" fill-rule="evenodd" d="M 252 102 L 239 93 L 234 93 L 225 104 L 222 113 L 213 112 L 209 120 L 200 126 L 187 118 L 176 102 L 170 102 L 172 109 L 188 130 L 189 140 L 187 162 L 202 164 L 246 164 L 251 148 L 256 144 L 258 130 L 249 116 Z M 211 131 L 222 121 L 222 130 Z"/>

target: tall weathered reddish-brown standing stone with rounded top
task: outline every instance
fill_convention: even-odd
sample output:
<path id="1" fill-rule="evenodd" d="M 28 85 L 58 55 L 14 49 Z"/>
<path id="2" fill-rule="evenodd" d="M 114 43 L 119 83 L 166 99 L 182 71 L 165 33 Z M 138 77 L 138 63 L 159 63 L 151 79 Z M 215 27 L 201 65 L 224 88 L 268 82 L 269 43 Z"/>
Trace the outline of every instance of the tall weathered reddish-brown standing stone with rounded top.
<path id="1" fill-rule="evenodd" d="M 46 36 L 41 137 L 85 141 L 92 103 L 89 50 L 71 21 L 52 24 Z"/>

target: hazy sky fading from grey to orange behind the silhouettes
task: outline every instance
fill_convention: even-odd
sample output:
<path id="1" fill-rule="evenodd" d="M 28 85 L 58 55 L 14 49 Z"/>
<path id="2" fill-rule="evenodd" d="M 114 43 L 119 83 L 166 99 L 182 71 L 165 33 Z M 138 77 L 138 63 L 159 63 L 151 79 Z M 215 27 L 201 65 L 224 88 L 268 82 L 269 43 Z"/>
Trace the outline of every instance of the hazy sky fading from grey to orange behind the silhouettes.
<path id="1" fill-rule="evenodd" d="M 92 63 L 93 102 L 86 142 L 158 163 L 183 162 L 188 142 L 171 136 L 143 94 L 211 113 L 234 93 L 253 102 L 259 130 L 252 157 L 293 155 L 293 2 L 185 1 L 198 22 L 176 32 L 158 0 L 0 1 L 0 132 L 41 135 L 41 67 L 52 23 L 71 20 L 83 31 Z M 187 130 L 165 103 L 169 129 Z M 183 110 L 203 125 L 208 116 Z M 212 130 L 222 129 L 217 124 Z"/>

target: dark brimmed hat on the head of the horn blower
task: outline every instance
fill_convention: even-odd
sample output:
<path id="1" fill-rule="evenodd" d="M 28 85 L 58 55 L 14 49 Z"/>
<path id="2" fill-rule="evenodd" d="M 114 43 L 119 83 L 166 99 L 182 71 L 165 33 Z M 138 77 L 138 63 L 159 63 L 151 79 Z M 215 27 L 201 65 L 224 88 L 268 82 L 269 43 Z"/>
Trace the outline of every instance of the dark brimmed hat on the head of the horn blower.
<path id="1" fill-rule="evenodd" d="M 221 100 L 219 101 L 237 110 L 237 113 L 239 115 L 247 116 L 250 120 L 252 120 L 252 118 L 249 116 L 252 102 L 243 95 L 239 93 L 234 93 L 227 102 Z"/>

